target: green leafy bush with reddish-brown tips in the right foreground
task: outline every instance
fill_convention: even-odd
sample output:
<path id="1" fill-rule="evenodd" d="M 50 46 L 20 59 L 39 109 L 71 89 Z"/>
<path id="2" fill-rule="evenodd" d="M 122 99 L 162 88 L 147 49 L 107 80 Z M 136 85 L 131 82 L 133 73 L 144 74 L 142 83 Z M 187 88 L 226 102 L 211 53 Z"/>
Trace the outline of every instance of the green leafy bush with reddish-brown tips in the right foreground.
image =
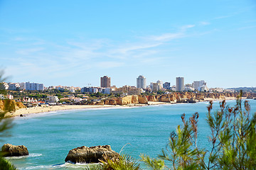
<path id="1" fill-rule="evenodd" d="M 198 113 L 189 120 L 183 114 L 183 127 L 179 125 L 176 132 L 171 132 L 159 159 L 142 155 L 142 161 L 151 169 L 255 169 L 256 115 L 250 114 L 248 101 L 242 109 L 242 92 L 235 107 L 223 101 L 220 111 L 211 113 L 212 109 L 213 102 L 210 102 L 206 119 L 210 148 L 198 147 Z M 163 161 L 169 162 L 169 166 Z"/>

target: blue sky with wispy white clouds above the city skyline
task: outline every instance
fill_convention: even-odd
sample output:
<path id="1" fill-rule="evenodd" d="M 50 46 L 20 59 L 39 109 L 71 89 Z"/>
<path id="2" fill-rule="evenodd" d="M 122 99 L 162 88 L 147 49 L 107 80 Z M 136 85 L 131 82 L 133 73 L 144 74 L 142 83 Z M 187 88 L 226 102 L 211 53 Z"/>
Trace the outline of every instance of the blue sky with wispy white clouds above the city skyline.
<path id="1" fill-rule="evenodd" d="M 0 0 L 0 68 L 45 86 L 256 86 L 256 1 Z"/>

